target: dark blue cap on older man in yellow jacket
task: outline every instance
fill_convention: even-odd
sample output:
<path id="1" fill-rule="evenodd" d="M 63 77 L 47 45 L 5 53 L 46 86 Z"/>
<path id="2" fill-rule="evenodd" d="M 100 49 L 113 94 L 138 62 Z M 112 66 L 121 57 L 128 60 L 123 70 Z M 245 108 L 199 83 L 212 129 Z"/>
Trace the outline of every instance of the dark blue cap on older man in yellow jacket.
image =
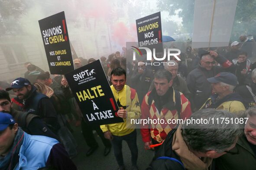
<path id="1" fill-rule="evenodd" d="M 236 86 L 238 84 L 237 76 L 235 76 L 230 72 L 220 72 L 216 76 L 208 78 L 207 81 L 210 83 L 224 82 L 228 85 L 233 85 L 233 86 Z"/>

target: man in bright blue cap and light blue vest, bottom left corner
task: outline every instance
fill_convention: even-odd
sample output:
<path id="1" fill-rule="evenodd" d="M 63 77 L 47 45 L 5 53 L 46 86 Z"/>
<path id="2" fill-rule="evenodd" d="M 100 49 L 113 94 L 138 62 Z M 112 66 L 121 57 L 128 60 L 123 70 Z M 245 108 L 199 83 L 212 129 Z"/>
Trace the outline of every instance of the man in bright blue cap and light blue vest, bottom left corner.
<path id="1" fill-rule="evenodd" d="M 0 112 L 0 170 L 37 170 L 42 167 L 77 169 L 56 139 L 29 135 L 18 127 L 13 116 Z"/>

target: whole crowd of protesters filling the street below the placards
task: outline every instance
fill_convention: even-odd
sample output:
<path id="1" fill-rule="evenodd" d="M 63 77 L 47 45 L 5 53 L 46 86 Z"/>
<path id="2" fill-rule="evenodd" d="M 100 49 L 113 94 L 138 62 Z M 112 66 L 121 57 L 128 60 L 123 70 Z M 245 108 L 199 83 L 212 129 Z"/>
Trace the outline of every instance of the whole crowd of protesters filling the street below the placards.
<path id="1" fill-rule="evenodd" d="M 159 66 L 143 57 L 126 62 L 132 56 L 125 47 L 100 57 L 117 115 L 124 120 L 108 125 L 84 120 L 86 110 L 79 109 L 61 75 L 25 63 L 24 77 L 0 84 L 0 169 L 75 170 L 71 159 L 78 151 L 70 125 L 75 122 L 89 146 L 86 156 L 98 148 L 96 131 L 104 156 L 113 148 L 120 170 L 126 169 L 122 141 L 131 151 L 133 170 L 138 169 L 138 132 L 145 150 L 155 151 L 149 170 L 255 170 L 256 63 L 250 61 L 256 57 L 255 41 L 245 35 L 239 39 L 222 48 L 187 44 L 178 58 Z M 73 63 L 78 69 L 94 61 L 80 57 Z"/>

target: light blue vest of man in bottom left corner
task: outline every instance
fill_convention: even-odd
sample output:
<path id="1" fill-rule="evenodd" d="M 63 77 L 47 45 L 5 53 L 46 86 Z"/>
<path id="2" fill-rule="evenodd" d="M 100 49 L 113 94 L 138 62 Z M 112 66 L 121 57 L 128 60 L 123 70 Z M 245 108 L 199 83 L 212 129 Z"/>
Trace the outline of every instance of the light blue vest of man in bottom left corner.
<path id="1" fill-rule="evenodd" d="M 55 144 L 58 144 L 56 139 L 24 132 L 23 145 L 19 151 L 19 163 L 14 170 L 37 170 L 46 167 L 51 149 Z"/>

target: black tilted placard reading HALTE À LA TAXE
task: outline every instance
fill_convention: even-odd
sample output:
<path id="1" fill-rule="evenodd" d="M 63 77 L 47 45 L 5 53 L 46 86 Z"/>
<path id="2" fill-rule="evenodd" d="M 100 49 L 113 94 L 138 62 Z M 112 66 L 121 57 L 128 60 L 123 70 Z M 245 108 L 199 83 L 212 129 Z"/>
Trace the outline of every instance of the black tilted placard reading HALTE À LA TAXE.
<path id="1" fill-rule="evenodd" d="M 98 125 L 120 123 L 118 105 L 100 60 L 65 74 L 84 119 Z"/>

